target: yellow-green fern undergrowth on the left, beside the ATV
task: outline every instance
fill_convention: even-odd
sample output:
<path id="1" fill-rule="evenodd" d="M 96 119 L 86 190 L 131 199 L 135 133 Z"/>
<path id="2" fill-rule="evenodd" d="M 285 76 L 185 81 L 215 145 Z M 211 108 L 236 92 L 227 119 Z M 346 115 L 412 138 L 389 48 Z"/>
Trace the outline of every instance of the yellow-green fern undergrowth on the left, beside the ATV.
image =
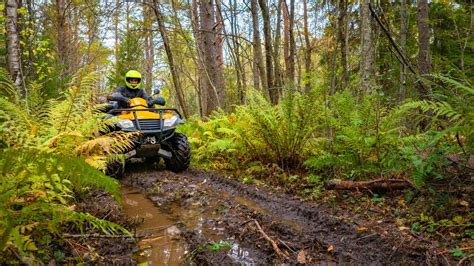
<path id="1" fill-rule="evenodd" d="M 80 71 L 61 99 L 44 100 L 31 84 L 20 99 L 0 70 L 0 262 L 49 262 L 64 248 L 65 232 L 129 234 L 75 211 L 75 197 L 91 188 L 119 200 L 118 181 L 100 170 L 131 144 L 127 135 L 97 133 L 108 127 L 96 111 L 97 78 Z"/>

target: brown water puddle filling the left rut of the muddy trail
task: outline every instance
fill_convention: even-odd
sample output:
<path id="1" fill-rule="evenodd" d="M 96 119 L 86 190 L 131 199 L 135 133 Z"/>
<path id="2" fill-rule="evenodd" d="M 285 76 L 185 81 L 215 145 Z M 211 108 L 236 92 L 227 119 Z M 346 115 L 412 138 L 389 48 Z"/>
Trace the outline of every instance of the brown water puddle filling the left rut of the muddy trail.
<path id="1" fill-rule="evenodd" d="M 192 264 L 196 253 L 206 251 L 226 251 L 232 263 L 254 265 L 251 253 L 242 248 L 235 240 L 226 240 L 223 226 L 209 223 L 219 219 L 217 201 L 209 204 L 186 202 L 175 194 L 175 200 L 166 206 L 158 207 L 146 198 L 137 188 L 122 186 L 122 206 L 125 214 L 139 219 L 136 236 L 140 239 L 136 259 L 146 265 L 183 265 Z M 229 195 L 224 195 L 228 198 Z M 242 199 L 242 201 L 245 201 Z M 202 245 L 190 247 L 183 237 L 184 231 L 194 232 L 205 240 Z"/>

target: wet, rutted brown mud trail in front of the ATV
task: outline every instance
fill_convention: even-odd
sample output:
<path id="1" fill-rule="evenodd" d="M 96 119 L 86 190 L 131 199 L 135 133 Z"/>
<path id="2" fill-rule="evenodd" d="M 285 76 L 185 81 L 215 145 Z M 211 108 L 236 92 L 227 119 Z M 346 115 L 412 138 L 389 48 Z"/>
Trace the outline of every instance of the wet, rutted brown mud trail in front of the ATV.
<path id="1" fill-rule="evenodd" d="M 155 264 L 420 264 L 429 253 L 360 231 L 324 206 L 229 177 L 131 166 L 125 212 L 144 223 L 138 262 Z M 145 198 L 146 197 L 146 198 Z"/>

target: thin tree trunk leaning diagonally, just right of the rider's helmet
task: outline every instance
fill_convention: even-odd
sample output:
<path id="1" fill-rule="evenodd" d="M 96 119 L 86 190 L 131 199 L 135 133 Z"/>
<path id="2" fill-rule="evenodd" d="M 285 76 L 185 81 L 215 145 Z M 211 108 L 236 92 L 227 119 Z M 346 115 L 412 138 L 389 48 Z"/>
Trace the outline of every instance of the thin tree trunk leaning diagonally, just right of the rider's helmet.
<path id="1" fill-rule="evenodd" d="M 181 87 L 181 82 L 179 80 L 179 76 L 178 76 L 179 73 L 176 69 L 168 35 L 166 34 L 165 24 L 163 21 L 163 15 L 160 10 L 160 4 L 158 3 L 158 0 L 153 0 L 153 4 L 154 4 L 156 20 L 158 22 L 158 29 L 160 31 L 161 39 L 163 40 L 163 46 L 165 47 L 166 57 L 168 59 L 168 65 L 170 67 L 171 77 L 173 79 L 173 85 L 176 90 L 176 94 L 178 96 L 179 105 L 181 106 L 181 110 L 183 112 L 184 117 L 188 117 L 186 102 L 183 95 L 183 89 Z"/>

